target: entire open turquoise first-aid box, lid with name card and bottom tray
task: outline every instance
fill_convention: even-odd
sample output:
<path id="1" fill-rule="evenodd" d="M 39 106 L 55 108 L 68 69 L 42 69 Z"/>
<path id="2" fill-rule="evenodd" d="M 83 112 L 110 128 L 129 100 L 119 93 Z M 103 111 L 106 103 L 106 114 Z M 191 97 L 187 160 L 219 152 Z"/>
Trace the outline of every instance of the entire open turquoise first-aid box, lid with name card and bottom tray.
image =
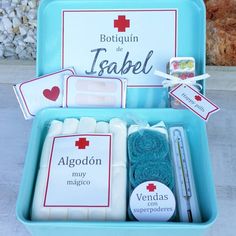
<path id="1" fill-rule="evenodd" d="M 127 79 L 126 109 L 57 108 L 36 114 L 17 201 L 17 218 L 32 235 L 203 235 L 217 215 L 206 126 L 187 110 L 167 108 L 168 91 L 155 69 L 171 57 L 194 57 L 205 72 L 205 6 L 202 0 L 43 0 L 38 12 L 37 76 L 74 67 L 80 76 Z M 203 84 L 204 87 L 204 84 Z M 201 223 L 35 221 L 31 207 L 40 156 L 52 120 L 93 117 L 108 122 L 132 117 L 163 120 L 187 130 Z"/>

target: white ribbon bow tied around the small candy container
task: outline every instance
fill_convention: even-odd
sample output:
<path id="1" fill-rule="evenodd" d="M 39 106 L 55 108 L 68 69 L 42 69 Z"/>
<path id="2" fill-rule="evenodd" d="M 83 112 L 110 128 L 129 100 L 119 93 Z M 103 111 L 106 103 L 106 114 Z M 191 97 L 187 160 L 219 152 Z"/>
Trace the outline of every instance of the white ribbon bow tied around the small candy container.
<path id="1" fill-rule="evenodd" d="M 154 72 L 154 74 L 157 75 L 157 76 L 160 76 L 162 78 L 165 78 L 165 80 L 162 82 L 163 87 L 168 88 L 168 87 L 173 87 L 173 86 L 178 85 L 178 84 L 187 84 L 187 85 L 190 85 L 190 86 L 196 86 L 200 90 L 202 90 L 202 85 L 197 83 L 197 81 L 205 80 L 205 79 L 210 77 L 209 74 L 203 74 L 203 75 L 194 76 L 194 77 L 187 78 L 187 79 L 183 80 L 183 79 L 180 79 L 180 78 L 175 77 L 173 75 L 166 74 L 166 73 L 158 71 L 158 70 L 156 70 Z"/>

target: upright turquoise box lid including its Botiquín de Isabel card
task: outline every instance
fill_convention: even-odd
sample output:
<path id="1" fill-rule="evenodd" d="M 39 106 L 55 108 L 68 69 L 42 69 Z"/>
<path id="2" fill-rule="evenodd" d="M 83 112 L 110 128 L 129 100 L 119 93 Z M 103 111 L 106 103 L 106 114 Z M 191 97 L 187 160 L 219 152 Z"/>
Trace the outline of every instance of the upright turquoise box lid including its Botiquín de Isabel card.
<path id="1" fill-rule="evenodd" d="M 73 66 L 80 75 L 128 80 L 127 107 L 166 107 L 154 70 L 173 56 L 205 72 L 202 0 L 43 0 L 38 13 L 37 75 Z"/>

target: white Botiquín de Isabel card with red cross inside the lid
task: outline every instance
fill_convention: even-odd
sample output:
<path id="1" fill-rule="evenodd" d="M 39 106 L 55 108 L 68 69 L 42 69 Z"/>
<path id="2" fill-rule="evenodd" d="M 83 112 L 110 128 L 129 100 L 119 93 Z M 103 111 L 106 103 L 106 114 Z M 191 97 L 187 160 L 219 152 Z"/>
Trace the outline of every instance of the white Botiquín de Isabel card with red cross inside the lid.
<path id="1" fill-rule="evenodd" d="M 79 75 L 128 79 L 129 87 L 159 87 L 177 51 L 177 10 L 64 10 L 62 67 Z"/>

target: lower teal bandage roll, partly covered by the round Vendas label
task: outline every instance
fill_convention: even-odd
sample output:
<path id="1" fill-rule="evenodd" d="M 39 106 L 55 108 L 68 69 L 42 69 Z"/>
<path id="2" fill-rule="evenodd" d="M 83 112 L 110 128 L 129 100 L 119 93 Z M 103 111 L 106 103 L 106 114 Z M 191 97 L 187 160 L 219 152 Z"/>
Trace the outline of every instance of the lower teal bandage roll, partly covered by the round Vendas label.
<path id="1" fill-rule="evenodd" d="M 146 181 L 159 181 L 174 189 L 174 176 L 169 160 L 139 162 L 130 167 L 130 183 L 133 188 Z"/>

